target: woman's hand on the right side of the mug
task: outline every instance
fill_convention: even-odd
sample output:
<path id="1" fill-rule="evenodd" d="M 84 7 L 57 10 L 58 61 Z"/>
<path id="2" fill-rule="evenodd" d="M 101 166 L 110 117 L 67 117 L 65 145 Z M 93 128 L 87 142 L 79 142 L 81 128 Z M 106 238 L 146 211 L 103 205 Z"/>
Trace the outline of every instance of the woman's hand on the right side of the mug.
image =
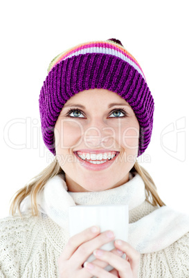
<path id="1" fill-rule="evenodd" d="M 93 252 L 96 258 L 113 266 L 113 270 L 107 272 L 99 266 L 88 262 L 84 263 L 84 268 L 87 268 L 91 275 L 95 275 L 98 278 L 136 278 L 140 262 L 140 253 L 125 241 L 117 240 L 114 242 L 114 245 L 118 250 L 121 250 L 126 254 L 126 259 L 104 250 L 95 250 Z"/>

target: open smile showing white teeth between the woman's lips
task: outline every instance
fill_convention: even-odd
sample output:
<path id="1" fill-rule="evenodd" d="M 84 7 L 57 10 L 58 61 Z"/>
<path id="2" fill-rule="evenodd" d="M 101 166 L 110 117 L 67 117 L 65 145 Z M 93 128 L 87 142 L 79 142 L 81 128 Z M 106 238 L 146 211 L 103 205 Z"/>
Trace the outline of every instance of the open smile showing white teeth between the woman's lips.
<path id="1" fill-rule="evenodd" d="M 80 159 L 87 161 L 91 164 L 103 164 L 107 163 L 107 161 L 112 160 L 119 154 L 118 151 L 107 151 L 99 154 L 86 153 L 82 151 L 74 152 Z"/>

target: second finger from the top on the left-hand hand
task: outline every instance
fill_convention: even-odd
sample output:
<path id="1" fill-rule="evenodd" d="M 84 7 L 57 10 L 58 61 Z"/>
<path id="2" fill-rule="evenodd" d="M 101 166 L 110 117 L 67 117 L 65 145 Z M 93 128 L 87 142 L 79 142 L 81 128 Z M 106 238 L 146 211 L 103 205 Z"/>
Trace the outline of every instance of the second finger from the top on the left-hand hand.
<path id="1" fill-rule="evenodd" d="M 84 261 L 86 261 L 93 253 L 93 250 L 100 248 L 105 243 L 113 241 L 114 237 L 114 233 L 111 231 L 102 232 L 98 235 L 98 237 L 80 245 L 80 247 L 71 256 L 71 261 L 73 261 L 75 266 L 81 266 L 82 263 L 84 263 Z"/>

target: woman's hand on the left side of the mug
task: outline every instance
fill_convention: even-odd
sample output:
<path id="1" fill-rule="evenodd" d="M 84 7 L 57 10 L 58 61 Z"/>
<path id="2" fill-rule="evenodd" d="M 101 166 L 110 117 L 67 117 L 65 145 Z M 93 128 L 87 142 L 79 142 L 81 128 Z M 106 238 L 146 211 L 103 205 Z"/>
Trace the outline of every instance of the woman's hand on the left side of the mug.
<path id="1" fill-rule="evenodd" d="M 98 227 L 88 228 L 79 234 L 71 237 L 66 244 L 60 258 L 58 259 L 58 268 L 61 278 L 91 278 L 93 275 L 87 268 L 82 267 L 84 262 L 93 253 L 105 243 L 114 240 L 114 234 L 111 231 L 100 233 Z M 115 248 L 111 252 L 114 256 L 119 257 L 123 254 Z M 96 259 L 93 266 L 105 268 L 109 263 Z"/>

